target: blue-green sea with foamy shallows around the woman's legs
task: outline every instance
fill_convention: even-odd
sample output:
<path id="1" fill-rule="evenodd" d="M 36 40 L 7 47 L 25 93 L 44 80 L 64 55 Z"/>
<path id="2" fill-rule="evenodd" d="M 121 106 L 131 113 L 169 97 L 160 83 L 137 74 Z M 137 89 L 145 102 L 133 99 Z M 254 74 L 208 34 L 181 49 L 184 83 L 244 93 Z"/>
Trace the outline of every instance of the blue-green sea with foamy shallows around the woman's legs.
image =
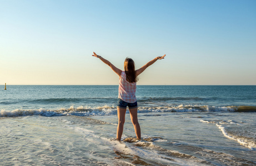
<path id="1" fill-rule="evenodd" d="M 116 141 L 117 85 L 7 85 L 0 165 L 256 165 L 256 86 L 137 86 Z"/>

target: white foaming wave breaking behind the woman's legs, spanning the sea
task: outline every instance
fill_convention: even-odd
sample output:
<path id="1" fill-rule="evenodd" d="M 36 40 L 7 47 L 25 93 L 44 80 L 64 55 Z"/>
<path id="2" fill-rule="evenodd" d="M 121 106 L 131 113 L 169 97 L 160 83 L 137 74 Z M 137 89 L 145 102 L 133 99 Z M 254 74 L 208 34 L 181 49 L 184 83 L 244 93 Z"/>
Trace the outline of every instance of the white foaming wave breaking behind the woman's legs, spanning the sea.
<path id="1" fill-rule="evenodd" d="M 128 109 L 127 109 L 128 111 Z M 138 113 L 145 112 L 256 112 L 254 106 L 193 106 L 193 105 L 178 105 L 167 107 L 138 107 Z M 44 108 L 31 109 L 31 110 L 0 110 L 0 117 L 14 117 L 14 116 L 108 116 L 116 115 L 116 106 L 99 106 L 99 107 L 87 107 L 79 106 L 75 108 L 73 105 L 69 108 L 59 108 L 56 110 L 47 110 Z"/>

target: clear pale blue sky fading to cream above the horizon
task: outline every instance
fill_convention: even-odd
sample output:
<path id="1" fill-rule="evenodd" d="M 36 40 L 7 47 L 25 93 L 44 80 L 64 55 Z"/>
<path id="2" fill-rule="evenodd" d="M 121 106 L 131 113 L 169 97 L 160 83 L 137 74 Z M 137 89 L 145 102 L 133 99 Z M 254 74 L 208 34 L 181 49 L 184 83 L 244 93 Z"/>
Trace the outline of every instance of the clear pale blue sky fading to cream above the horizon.
<path id="1" fill-rule="evenodd" d="M 0 84 L 256 85 L 256 1 L 0 0 Z"/>

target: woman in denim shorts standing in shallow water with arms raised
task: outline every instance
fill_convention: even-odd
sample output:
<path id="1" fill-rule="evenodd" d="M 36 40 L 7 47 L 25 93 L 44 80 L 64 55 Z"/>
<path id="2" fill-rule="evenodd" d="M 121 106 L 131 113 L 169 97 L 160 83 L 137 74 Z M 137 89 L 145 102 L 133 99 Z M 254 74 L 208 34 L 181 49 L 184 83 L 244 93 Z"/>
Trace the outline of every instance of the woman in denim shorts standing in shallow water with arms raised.
<path id="1" fill-rule="evenodd" d="M 138 106 L 137 99 L 135 96 L 137 77 L 140 75 L 148 66 L 152 65 L 158 59 L 164 59 L 164 56 L 158 56 L 157 58 L 149 61 L 147 64 L 142 66 L 142 68 L 135 70 L 134 61 L 130 58 L 126 58 L 124 61 L 124 71 L 116 68 L 108 60 L 102 58 L 102 56 L 97 55 L 93 52 L 93 55 L 99 58 L 103 63 L 107 64 L 111 69 L 116 72 L 119 76 L 119 88 L 118 88 L 118 105 L 117 105 L 117 115 L 118 115 L 118 126 L 117 126 L 117 139 L 121 141 L 123 134 L 123 126 L 126 118 L 126 108 L 129 107 L 130 120 L 133 123 L 133 127 L 137 136 L 140 139 L 140 127 L 138 122 Z"/>

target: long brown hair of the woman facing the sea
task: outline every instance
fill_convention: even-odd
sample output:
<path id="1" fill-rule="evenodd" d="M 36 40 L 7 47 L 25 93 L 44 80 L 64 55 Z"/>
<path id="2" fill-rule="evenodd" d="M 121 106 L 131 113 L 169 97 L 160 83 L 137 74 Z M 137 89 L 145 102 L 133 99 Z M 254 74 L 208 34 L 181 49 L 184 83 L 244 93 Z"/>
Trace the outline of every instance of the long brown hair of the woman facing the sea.
<path id="1" fill-rule="evenodd" d="M 130 83 L 137 82 L 138 79 L 135 74 L 134 61 L 130 58 L 124 60 L 124 71 L 126 72 L 126 80 Z"/>

